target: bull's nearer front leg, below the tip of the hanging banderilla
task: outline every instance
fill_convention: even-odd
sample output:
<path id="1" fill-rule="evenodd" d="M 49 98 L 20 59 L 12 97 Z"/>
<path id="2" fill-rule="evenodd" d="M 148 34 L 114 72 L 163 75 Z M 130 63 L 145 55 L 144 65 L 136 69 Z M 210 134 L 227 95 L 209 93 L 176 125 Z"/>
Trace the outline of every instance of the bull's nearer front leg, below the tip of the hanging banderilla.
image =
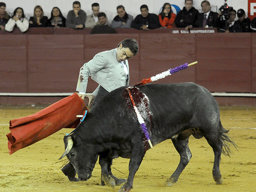
<path id="1" fill-rule="evenodd" d="M 131 160 L 129 162 L 128 179 L 125 182 L 125 184 L 119 189 L 118 192 L 129 192 L 132 189 L 134 175 L 139 169 L 140 163 L 142 162 L 144 155 L 145 155 L 144 147 L 138 148 L 138 146 L 136 146 L 135 149 L 132 151 Z"/>

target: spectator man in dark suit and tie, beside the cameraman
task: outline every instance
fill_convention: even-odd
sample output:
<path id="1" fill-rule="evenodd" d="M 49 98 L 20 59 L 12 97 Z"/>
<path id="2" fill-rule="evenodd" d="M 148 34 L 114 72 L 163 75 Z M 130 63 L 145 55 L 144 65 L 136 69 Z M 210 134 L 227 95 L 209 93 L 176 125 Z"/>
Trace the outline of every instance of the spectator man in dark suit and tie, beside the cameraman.
<path id="1" fill-rule="evenodd" d="M 201 7 L 203 13 L 198 15 L 195 26 L 200 28 L 218 27 L 218 13 L 211 11 L 209 1 L 202 1 Z"/>

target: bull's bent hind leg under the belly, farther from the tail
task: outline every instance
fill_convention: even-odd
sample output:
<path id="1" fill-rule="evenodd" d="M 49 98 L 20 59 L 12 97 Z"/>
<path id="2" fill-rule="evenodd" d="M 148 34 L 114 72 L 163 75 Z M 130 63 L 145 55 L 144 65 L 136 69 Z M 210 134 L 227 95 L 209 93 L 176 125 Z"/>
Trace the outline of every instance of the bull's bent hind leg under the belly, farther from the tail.
<path id="1" fill-rule="evenodd" d="M 192 154 L 189 150 L 189 138 L 186 138 L 184 140 L 180 137 L 174 137 L 172 138 L 172 143 L 180 154 L 180 163 L 172 176 L 166 180 L 166 186 L 172 186 L 173 184 L 177 183 L 181 172 L 183 171 L 183 169 L 185 169 L 186 165 L 189 163 L 189 160 L 192 157 Z"/>

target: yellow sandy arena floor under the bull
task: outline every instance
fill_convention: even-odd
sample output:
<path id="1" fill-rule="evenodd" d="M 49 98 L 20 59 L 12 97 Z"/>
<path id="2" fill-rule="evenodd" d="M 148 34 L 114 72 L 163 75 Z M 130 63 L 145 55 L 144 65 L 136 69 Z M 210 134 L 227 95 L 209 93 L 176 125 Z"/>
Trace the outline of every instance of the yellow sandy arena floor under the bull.
<path id="1" fill-rule="evenodd" d="M 117 192 L 119 186 L 112 189 L 100 185 L 98 163 L 86 182 L 69 182 L 61 172 L 63 162 L 58 163 L 58 158 L 64 152 L 64 134 L 70 133 L 70 129 L 62 129 L 9 155 L 6 137 L 9 120 L 28 116 L 44 107 L 0 106 L 0 192 Z M 222 125 L 230 128 L 229 136 L 239 145 L 238 151 L 232 148 L 231 158 L 221 156 L 222 185 L 216 185 L 212 178 L 212 148 L 204 138 L 190 137 L 192 159 L 177 184 L 164 186 L 180 159 L 172 141 L 167 140 L 147 151 L 131 192 L 256 192 L 256 108 L 221 107 L 220 110 Z M 128 162 L 122 158 L 113 160 L 113 168 L 120 171 L 112 169 L 113 174 L 128 177 Z"/>

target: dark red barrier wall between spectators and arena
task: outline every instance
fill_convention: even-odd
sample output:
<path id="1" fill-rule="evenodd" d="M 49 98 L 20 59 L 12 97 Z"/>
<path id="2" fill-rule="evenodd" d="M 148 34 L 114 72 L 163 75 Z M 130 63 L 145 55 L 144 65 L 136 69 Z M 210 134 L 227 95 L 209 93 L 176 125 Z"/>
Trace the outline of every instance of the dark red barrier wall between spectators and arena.
<path id="1" fill-rule="evenodd" d="M 127 33 L 124 33 L 127 32 Z M 117 34 L 90 35 L 90 29 L 31 29 L 0 32 L 0 92 L 58 93 L 76 91 L 80 67 L 125 38 L 135 38 L 138 54 L 129 59 L 135 84 L 184 63 L 198 64 L 157 83 L 192 81 L 211 92 L 256 93 L 256 34 L 171 34 L 117 29 Z M 87 91 L 97 84 L 90 80 Z M 6 99 L 0 98 L 0 103 Z"/>

